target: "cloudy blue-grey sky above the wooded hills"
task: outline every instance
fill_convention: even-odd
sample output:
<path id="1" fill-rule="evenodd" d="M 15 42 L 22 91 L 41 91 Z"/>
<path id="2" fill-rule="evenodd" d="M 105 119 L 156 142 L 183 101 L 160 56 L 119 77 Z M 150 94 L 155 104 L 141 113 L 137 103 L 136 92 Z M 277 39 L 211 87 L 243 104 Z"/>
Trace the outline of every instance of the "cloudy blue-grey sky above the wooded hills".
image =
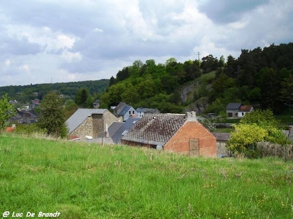
<path id="1" fill-rule="evenodd" d="M 1 0 L 0 86 L 110 78 L 135 60 L 293 41 L 292 0 Z"/>

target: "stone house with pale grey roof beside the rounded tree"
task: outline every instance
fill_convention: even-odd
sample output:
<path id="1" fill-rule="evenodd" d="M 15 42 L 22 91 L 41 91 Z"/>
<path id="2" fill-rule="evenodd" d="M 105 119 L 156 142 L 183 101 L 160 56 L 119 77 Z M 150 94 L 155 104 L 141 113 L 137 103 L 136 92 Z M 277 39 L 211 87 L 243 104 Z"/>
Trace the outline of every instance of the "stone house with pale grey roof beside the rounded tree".
<path id="1" fill-rule="evenodd" d="M 81 139 L 89 136 L 97 138 L 113 122 L 119 119 L 107 109 L 78 109 L 67 119 L 69 136 L 75 135 Z"/>

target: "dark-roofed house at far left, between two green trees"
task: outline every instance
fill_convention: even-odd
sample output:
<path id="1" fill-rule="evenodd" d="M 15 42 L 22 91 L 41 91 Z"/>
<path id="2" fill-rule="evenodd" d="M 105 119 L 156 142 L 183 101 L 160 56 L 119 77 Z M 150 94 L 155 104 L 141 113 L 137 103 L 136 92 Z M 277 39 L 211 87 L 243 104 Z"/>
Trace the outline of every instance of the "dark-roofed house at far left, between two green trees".
<path id="1" fill-rule="evenodd" d="M 16 115 L 9 119 L 11 123 L 32 124 L 38 122 L 39 114 L 34 109 L 16 109 Z"/>

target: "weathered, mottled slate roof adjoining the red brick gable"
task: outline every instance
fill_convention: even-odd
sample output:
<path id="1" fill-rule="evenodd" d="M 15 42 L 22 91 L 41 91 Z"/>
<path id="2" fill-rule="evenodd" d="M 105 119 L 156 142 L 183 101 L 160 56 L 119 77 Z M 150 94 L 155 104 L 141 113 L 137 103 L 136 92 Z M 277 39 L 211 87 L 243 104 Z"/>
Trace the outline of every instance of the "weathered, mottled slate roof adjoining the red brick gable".
<path id="1" fill-rule="evenodd" d="M 184 114 L 147 113 L 122 139 L 150 145 L 165 145 L 185 121 Z"/>

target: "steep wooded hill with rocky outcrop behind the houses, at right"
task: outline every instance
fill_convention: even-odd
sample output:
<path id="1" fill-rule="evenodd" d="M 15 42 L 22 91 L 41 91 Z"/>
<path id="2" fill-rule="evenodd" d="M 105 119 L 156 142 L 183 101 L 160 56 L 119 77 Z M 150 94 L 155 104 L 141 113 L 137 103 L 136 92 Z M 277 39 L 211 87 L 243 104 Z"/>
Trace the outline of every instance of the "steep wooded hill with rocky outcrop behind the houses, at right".
<path id="1" fill-rule="evenodd" d="M 208 74 L 213 77 L 206 77 Z M 186 86 L 193 86 L 191 98 L 183 100 Z M 227 60 L 213 55 L 184 63 L 175 58 L 164 64 L 136 60 L 110 78 L 110 87 L 101 97 L 107 108 L 120 101 L 174 113 L 198 102 L 208 106 L 206 113 L 224 112 L 229 102 L 280 112 L 293 102 L 293 43 L 243 49 L 238 58 L 229 55 Z"/>

